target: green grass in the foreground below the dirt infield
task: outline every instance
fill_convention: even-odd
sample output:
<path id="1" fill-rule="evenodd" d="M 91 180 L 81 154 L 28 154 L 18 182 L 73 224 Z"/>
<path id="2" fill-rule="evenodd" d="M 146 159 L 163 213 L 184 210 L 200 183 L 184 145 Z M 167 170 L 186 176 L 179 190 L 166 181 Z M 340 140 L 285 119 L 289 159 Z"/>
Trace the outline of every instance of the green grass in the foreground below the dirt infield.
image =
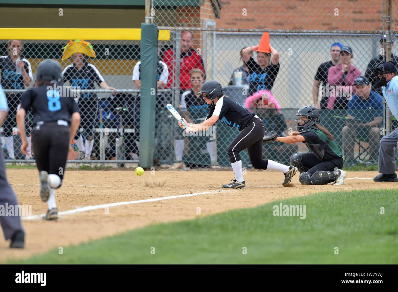
<path id="1" fill-rule="evenodd" d="M 64 247 L 62 255 L 56 248 L 10 263 L 398 263 L 398 191 L 317 193 L 282 201 L 306 205 L 304 220 L 273 216 L 273 205 L 279 202 L 152 225 Z M 155 254 L 150 253 L 151 247 Z M 244 247 L 247 254 L 242 253 Z M 335 247 L 339 254 L 334 253 Z"/>

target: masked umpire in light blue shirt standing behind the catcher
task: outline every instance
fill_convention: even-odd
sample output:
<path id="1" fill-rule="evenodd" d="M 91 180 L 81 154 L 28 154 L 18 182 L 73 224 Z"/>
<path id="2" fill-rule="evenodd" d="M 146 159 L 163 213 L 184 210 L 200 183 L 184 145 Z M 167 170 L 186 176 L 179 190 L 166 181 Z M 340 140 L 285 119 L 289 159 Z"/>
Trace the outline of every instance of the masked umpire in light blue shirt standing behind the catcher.
<path id="1" fill-rule="evenodd" d="M 377 62 L 372 70 L 375 86 L 382 88 L 384 99 L 395 118 L 398 118 L 398 77 L 393 62 Z M 380 140 L 378 154 L 378 174 L 375 182 L 398 182 L 395 173 L 395 149 L 398 146 L 398 129 L 394 129 Z"/>

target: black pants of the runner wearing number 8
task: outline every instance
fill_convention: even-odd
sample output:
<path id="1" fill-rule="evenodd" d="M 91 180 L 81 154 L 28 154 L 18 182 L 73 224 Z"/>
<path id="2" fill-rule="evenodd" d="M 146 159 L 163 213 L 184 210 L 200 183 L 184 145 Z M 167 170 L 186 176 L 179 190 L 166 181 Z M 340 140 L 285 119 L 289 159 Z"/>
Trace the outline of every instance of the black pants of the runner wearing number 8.
<path id="1" fill-rule="evenodd" d="M 32 145 L 37 169 L 49 174 L 57 174 L 62 181 L 69 150 L 69 126 L 48 122 L 35 126 L 32 132 Z"/>

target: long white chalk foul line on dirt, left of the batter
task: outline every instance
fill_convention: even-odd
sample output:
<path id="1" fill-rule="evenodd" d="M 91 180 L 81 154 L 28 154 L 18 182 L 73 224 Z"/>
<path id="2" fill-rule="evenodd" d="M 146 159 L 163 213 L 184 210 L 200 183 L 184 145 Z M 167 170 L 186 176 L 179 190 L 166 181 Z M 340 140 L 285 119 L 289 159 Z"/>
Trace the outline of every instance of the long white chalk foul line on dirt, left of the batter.
<path id="1" fill-rule="evenodd" d="M 199 195 L 206 195 L 206 194 L 209 194 L 209 193 L 224 193 L 224 192 L 229 192 L 229 191 L 231 191 L 231 190 L 204 191 L 204 192 L 201 192 L 201 193 L 187 193 L 185 195 L 177 195 L 177 196 L 170 196 L 170 197 L 160 197 L 160 198 L 144 199 L 144 200 L 138 200 L 138 201 L 117 202 L 117 203 L 109 203 L 109 204 L 102 204 L 102 205 L 95 205 L 95 206 L 86 206 L 86 207 L 82 207 L 82 208 L 77 208 L 77 209 L 73 209 L 73 210 L 59 212 L 58 216 L 60 216 L 60 215 L 69 215 L 69 214 L 85 212 L 85 211 L 91 211 L 91 210 L 102 209 L 102 208 L 108 208 L 108 207 L 130 205 L 130 204 L 139 204 L 139 203 L 148 203 L 148 202 L 156 202 L 156 201 L 177 199 L 177 198 L 183 198 L 183 197 L 193 197 L 193 196 L 199 196 Z M 45 215 L 45 214 L 22 217 L 22 220 L 37 220 L 37 219 L 41 219 L 43 217 L 43 215 Z"/>

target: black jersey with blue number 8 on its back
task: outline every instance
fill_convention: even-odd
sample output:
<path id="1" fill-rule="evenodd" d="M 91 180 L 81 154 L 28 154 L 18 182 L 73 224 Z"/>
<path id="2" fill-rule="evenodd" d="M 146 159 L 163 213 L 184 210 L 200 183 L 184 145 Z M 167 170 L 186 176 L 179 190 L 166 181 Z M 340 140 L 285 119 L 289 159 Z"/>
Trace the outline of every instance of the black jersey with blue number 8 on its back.
<path id="1" fill-rule="evenodd" d="M 47 89 L 48 88 L 48 89 Z M 51 89 L 50 89 L 51 88 Z M 55 89 L 53 84 L 28 89 L 21 96 L 21 107 L 27 112 L 32 109 L 33 124 L 37 122 L 70 122 L 70 116 L 79 112 L 73 93 L 68 87 Z"/>

